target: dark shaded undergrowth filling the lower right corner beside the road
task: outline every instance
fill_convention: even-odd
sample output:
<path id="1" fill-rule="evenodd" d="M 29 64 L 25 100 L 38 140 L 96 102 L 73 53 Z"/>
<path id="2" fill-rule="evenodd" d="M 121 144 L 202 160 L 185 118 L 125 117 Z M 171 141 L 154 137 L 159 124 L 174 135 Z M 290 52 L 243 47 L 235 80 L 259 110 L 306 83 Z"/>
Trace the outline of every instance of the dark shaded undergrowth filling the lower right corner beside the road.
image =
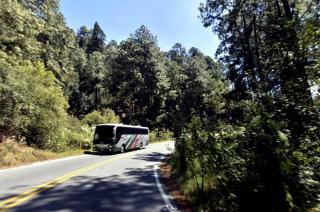
<path id="1" fill-rule="evenodd" d="M 186 196 L 203 211 L 308 211 L 316 207 L 319 151 L 295 149 L 289 131 L 267 114 L 214 130 L 193 117 L 171 164 Z M 309 146 L 307 146 L 309 145 Z M 311 150 L 311 151 L 310 151 Z"/>

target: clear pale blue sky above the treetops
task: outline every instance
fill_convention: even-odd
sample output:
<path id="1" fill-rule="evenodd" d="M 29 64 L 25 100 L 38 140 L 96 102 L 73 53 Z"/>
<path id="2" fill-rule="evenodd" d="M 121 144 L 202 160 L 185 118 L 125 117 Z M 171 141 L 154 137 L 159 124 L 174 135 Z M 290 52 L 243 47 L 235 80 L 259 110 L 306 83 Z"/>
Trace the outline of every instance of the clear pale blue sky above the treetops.
<path id="1" fill-rule="evenodd" d="M 205 0 L 60 0 L 69 27 L 92 28 L 95 21 L 110 40 L 127 39 L 142 24 L 157 36 L 162 50 L 180 42 L 214 56 L 218 38 L 202 26 L 198 7 Z"/>

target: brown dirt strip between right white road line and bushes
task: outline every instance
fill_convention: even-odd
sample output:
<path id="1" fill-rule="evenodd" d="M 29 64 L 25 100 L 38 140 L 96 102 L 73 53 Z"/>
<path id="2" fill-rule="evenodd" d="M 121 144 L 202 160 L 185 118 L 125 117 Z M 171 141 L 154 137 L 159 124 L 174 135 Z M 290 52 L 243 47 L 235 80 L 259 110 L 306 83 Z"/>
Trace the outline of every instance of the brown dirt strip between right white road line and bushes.
<path id="1" fill-rule="evenodd" d="M 173 198 L 179 211 L 193 212 L 197 211 L 196 208 L 187 200 L 183 195 L 179 185 L 172 175 L 171 166 L 168 164 L 168 158 L 160 165 L 161 182 L 166 187 L 170 196 Z"/>

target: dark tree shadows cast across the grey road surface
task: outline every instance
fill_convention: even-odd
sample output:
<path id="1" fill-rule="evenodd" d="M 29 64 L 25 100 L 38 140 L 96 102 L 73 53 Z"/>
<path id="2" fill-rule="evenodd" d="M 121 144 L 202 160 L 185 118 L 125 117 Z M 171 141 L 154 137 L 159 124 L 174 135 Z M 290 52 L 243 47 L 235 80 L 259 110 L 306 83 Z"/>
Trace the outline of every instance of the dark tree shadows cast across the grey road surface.
<path id="1" fill-rule="evenodd" d="M 159 161 L 162 156 L 153 152 L 135 159 Z M 167 210 L 155 184 L 153 165 L 146 163 L 144 168 L 126 168 L 121 176 L 101 173 L 74 177 L 12 211 Z"/>

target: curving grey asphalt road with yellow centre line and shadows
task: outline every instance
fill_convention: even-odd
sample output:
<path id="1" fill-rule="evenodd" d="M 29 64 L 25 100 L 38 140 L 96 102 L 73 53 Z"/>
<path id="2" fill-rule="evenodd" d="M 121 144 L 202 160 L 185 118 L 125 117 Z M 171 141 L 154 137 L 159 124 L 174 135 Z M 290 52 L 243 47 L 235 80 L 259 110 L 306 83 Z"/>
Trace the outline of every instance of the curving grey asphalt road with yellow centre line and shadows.
<path id="1" fill-rule="evenodd" d="M 173 146 L 157 143 L 0 170 L 0 210 L 168 211 L 154 168 Z"/>

